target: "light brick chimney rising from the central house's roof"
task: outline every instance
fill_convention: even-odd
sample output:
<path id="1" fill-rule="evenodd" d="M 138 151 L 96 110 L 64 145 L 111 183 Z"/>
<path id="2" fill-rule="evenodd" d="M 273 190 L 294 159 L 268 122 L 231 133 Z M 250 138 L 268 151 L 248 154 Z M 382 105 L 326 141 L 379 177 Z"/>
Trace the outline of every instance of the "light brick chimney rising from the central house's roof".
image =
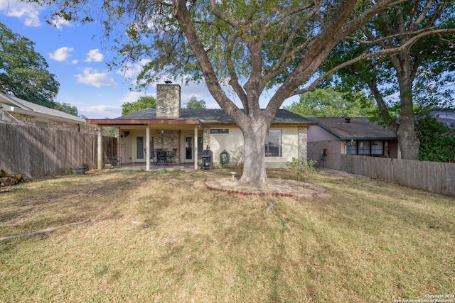
<path id="1" fill-rule="evenodd" d="M 180 97 L 179 84 L 156 84 L 156 118 L 179 118 Z"/>

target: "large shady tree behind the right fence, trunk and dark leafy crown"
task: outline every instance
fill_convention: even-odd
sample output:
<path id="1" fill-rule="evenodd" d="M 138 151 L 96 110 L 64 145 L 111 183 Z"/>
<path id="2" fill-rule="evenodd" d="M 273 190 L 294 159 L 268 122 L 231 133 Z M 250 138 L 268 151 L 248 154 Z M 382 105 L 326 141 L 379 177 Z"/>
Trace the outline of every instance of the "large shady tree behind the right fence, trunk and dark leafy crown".
<path id="1" fill-rule="evenodd" d="M 453 99 L 444 84 L 453 82 L 454 5 L 453 0 L 403 1 L 337 45 L 326 61 L 329 70 L 361 53 L 399 50 L 356 62 L 338 75 L 347 87 L 370 91 L 379 119 L 395 131 L 404 159 L 419 158 L 414 104 L 431 107 Z"/>

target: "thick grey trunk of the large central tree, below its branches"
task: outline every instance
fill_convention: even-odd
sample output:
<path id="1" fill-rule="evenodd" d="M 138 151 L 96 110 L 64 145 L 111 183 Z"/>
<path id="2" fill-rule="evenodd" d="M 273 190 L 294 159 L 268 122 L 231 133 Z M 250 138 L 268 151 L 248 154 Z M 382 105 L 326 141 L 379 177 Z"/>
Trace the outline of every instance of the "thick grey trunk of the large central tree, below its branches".
<path id="1" fill-rule="evenodd" d="M 243 174 L 239 183 L 250 184 L 254 187 L 267 187 L 265 170 L 264 142 L 268 127 L 264 123 L 250 123 L 243 133 Z"/>

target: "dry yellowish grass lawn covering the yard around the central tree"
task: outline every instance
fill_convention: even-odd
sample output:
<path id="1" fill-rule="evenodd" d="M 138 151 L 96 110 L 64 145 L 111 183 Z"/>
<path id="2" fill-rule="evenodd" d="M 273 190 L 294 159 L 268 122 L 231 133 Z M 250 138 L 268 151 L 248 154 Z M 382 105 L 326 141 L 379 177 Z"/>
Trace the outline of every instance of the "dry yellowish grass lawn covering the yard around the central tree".
<path id="1" fill-rule="evenodd" d="M 453 197 L 322 173 L 314 183 L 330 197 L 319 201 L 213 192 L 202 183 L 229 176 L 105 172 L 0 192 L 0 237 L 85 222 L 1 241 L 0 301 L 397 302 L 455 294 Z"/>

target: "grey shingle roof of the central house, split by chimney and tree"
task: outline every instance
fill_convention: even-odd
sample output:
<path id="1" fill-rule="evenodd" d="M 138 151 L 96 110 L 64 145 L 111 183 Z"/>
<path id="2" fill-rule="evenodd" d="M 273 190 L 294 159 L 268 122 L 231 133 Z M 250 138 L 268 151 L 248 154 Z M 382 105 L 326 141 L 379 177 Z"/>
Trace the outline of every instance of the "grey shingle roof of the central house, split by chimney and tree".
<path id="1" fill-rule="evenodd" d="M 119 120 L 153 120 L 156 118 L 156 109 L 144 109 L 136 111 L 126 116 L 116 118 Z M 114 119 L 115 120 L 115 119 Z M 161 119 L 160 119 L 161 120 Z M 210 124 L 233 124 L 234 122 L 228 117 L 223 109 L 181 109 L 180 118 L 170 120 L 199 120 L 203 123 Z M 275 124 L 315 124 L 313 121 L 302 116 L 279 109 L 274 118 Z"/>

